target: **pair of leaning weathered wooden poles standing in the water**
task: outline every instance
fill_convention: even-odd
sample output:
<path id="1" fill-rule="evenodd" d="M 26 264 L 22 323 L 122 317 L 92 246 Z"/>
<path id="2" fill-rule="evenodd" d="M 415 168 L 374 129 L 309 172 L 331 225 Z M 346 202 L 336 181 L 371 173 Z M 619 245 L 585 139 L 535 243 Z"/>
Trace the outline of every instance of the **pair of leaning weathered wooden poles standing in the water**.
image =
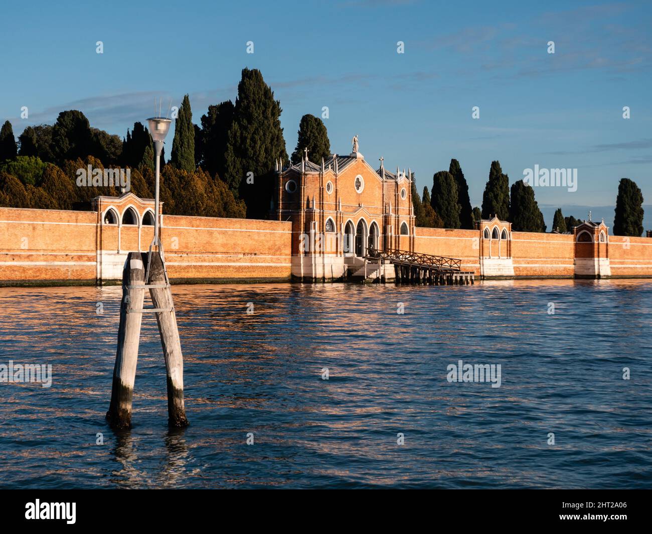
<path id="1" fill-rule="evenodd" d="M 147 259 L 149 280 L 145 283 Z M 145 289 L 153 307 L 143 308 Z M 132 396 L 138 362 L 138 344 L 143 313 L 156 313 L 168 375 L 168 424 L 188 426 L 183 403 L 183 354 L 174 313 L 170 283 L 160 253 L 130 252 L 123 270 L 123 298 L 120 306 L 118 347 L 113 368 L 111 404 L 106 418 L 112 428 L 131 428 Z"/>

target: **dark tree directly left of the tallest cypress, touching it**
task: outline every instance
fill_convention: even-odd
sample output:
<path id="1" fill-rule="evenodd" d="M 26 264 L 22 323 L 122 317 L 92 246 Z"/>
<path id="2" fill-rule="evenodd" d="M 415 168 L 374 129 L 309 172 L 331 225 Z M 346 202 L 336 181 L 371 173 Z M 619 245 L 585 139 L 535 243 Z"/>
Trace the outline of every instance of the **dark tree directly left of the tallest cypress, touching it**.
<path id="1" fill-rule="evenodd" d="M 201 165 L 211 176 L 217 175 L 222 180 L 234 110 L 233 102 L 228 100 L 208 106 L 208 113 L 201 116 Z"/>

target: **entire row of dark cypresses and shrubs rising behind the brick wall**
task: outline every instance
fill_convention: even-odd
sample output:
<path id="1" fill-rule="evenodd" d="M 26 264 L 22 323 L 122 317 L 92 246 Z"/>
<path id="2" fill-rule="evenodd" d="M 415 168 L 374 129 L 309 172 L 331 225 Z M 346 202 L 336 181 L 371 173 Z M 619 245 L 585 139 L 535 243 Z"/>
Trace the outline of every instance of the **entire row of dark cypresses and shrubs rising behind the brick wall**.
<path id="1" fill-rule="evenodd" d="M 297 146 L 286 152 L 282 109 L 258 69 L 243 69 L 235 103 L 210 105 L 192 122 L 188 95 L 183 97 L 175 121 L 170 160 L 161 156 L 161 200 L 165 212 L 207 217 L 266 218 L 273 198 L 276 161 L 321 163 L 331 153 L 327 129 L 321 119 L 301 118 Z M 140 122 L 120 138 L 91 127 L 78 110 L 59 114 L 54 125 L 28 126 L 14 138 L 6 121 L 0 129 L 0 206 L 89 209 L 97 195 L 119 195 L 115 188 L 76 187 L 78 168 L 119 166 L 131 169 L 131 190 L 151 198 L 155 154 L 147 127 Z M 449 170 L 436 172 L 432 188 L 419 196 L 414 176 L 412 201 L 417 226 L 473 228 L 475 221 L 496 215 L 510 221 L 516 231 L 545 232 L 546 225 L 534 189 L 524 181 L 509 185 L 500 163 L 493 161 L 482 195 L 482 207 L 471 208 L 469 187 L 460 163 L 451 159 Z M 619 183 L 614 234 L 643 232 L 643 197 L 631 180 Z M 571 231 L 580 221 L 555 213 L 553 230 Z"/>

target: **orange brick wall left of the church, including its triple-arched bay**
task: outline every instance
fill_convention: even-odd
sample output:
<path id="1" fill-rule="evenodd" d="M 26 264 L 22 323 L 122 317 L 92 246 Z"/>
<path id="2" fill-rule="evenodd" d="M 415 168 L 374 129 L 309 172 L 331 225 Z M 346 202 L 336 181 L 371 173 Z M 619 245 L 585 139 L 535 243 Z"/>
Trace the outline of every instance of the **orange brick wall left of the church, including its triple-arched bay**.
<path id="1" fill-rule="evenodd" d="M 147 251 L 153 227 L 147 206 L 138 224 L 100 223 L 99 212 L 0 208 L 0 284 L 111 283 L 129 251 Z M 108 208 L 107 208 L 108 209 Z M 176 281 L 289 280 L 291 223 L 164 215 L 161 239 Z"/>

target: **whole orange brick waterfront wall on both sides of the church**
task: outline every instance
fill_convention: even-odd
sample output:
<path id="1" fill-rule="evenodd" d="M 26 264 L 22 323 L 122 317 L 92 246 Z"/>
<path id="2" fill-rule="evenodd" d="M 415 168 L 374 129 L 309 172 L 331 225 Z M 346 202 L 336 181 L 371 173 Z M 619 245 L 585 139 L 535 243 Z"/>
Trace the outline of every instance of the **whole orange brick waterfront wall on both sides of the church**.
<path id="1" fill-rule="evenodd" d="M 133 195 L 132 195 L 133 196 Z M 153 227 L 143 224 L 151 201 L 121 198 L 98 211 L 0 208 L 0 284 L 108 283 L 120 279 L 126 253 L 147 251 Z M 110 204 L 110 203 L 109 203 Z M 134 209 L 137 224 L 108 224 Z M 168 274 L 175 281 L 289 280 L 292 223 L 164 215 L 161 238 Z M 595 230 L 596 236 L 599 229 Z M 591 257 L 610 265 L 612 276 L 652 276 L 652 239 L 608 236 L 577 243 L 572 235 L 509 232 L 487 240 L 482 230 L 415 228 L 414 250 L 462 259 L 462 270 L 516 277 L 573 277 Z M 409 249 L 402 236 L 401 248 Z M 491 264 L 494 264 L 492 267 Z M 506 264 L 509 264 L 506 266 Z"/>

